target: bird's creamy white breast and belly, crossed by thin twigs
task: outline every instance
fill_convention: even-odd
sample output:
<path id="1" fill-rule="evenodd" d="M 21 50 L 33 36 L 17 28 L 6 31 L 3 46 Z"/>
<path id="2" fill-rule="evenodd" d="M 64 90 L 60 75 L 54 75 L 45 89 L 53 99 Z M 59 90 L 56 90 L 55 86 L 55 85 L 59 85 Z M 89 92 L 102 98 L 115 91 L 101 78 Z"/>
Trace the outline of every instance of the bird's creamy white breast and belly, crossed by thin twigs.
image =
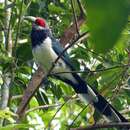
<path id="1" fill-rule="evenodd" d="M 50 70 L 52 64 L 58 57 L 52 48 L 52 41 L 49 37 L 47 37 L 42 44 L 37 45 L 35 48 L 33 48 L 33 55 L 35 61 L 37 61 L 43 67 L 46 73 Z M 58 60 L 54 69 L 52 70 L 53 73 L 68 71 L 70 71 L 70 68 L 65 64 L 62 59 Z M 71 73 L 62 73 L 60 74 L 60 76 L 76 82 Z"/>

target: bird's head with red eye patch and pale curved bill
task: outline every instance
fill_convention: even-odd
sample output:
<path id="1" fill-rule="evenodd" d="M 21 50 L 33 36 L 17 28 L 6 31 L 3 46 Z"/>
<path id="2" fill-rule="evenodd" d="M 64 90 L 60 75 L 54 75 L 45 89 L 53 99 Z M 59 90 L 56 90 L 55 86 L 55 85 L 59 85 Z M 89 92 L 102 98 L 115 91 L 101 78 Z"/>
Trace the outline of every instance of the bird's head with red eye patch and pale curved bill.
<path id="1" fill-rule="evenodd" d="M 29 20 L 32 22 L 32 28 L 36 30 L 41 29 L 48 29 L 48 25 L 46 23 L 46 20 L 40 17 L 33 17 L 33 16 L 25 16 L 25 20 Z"/>

